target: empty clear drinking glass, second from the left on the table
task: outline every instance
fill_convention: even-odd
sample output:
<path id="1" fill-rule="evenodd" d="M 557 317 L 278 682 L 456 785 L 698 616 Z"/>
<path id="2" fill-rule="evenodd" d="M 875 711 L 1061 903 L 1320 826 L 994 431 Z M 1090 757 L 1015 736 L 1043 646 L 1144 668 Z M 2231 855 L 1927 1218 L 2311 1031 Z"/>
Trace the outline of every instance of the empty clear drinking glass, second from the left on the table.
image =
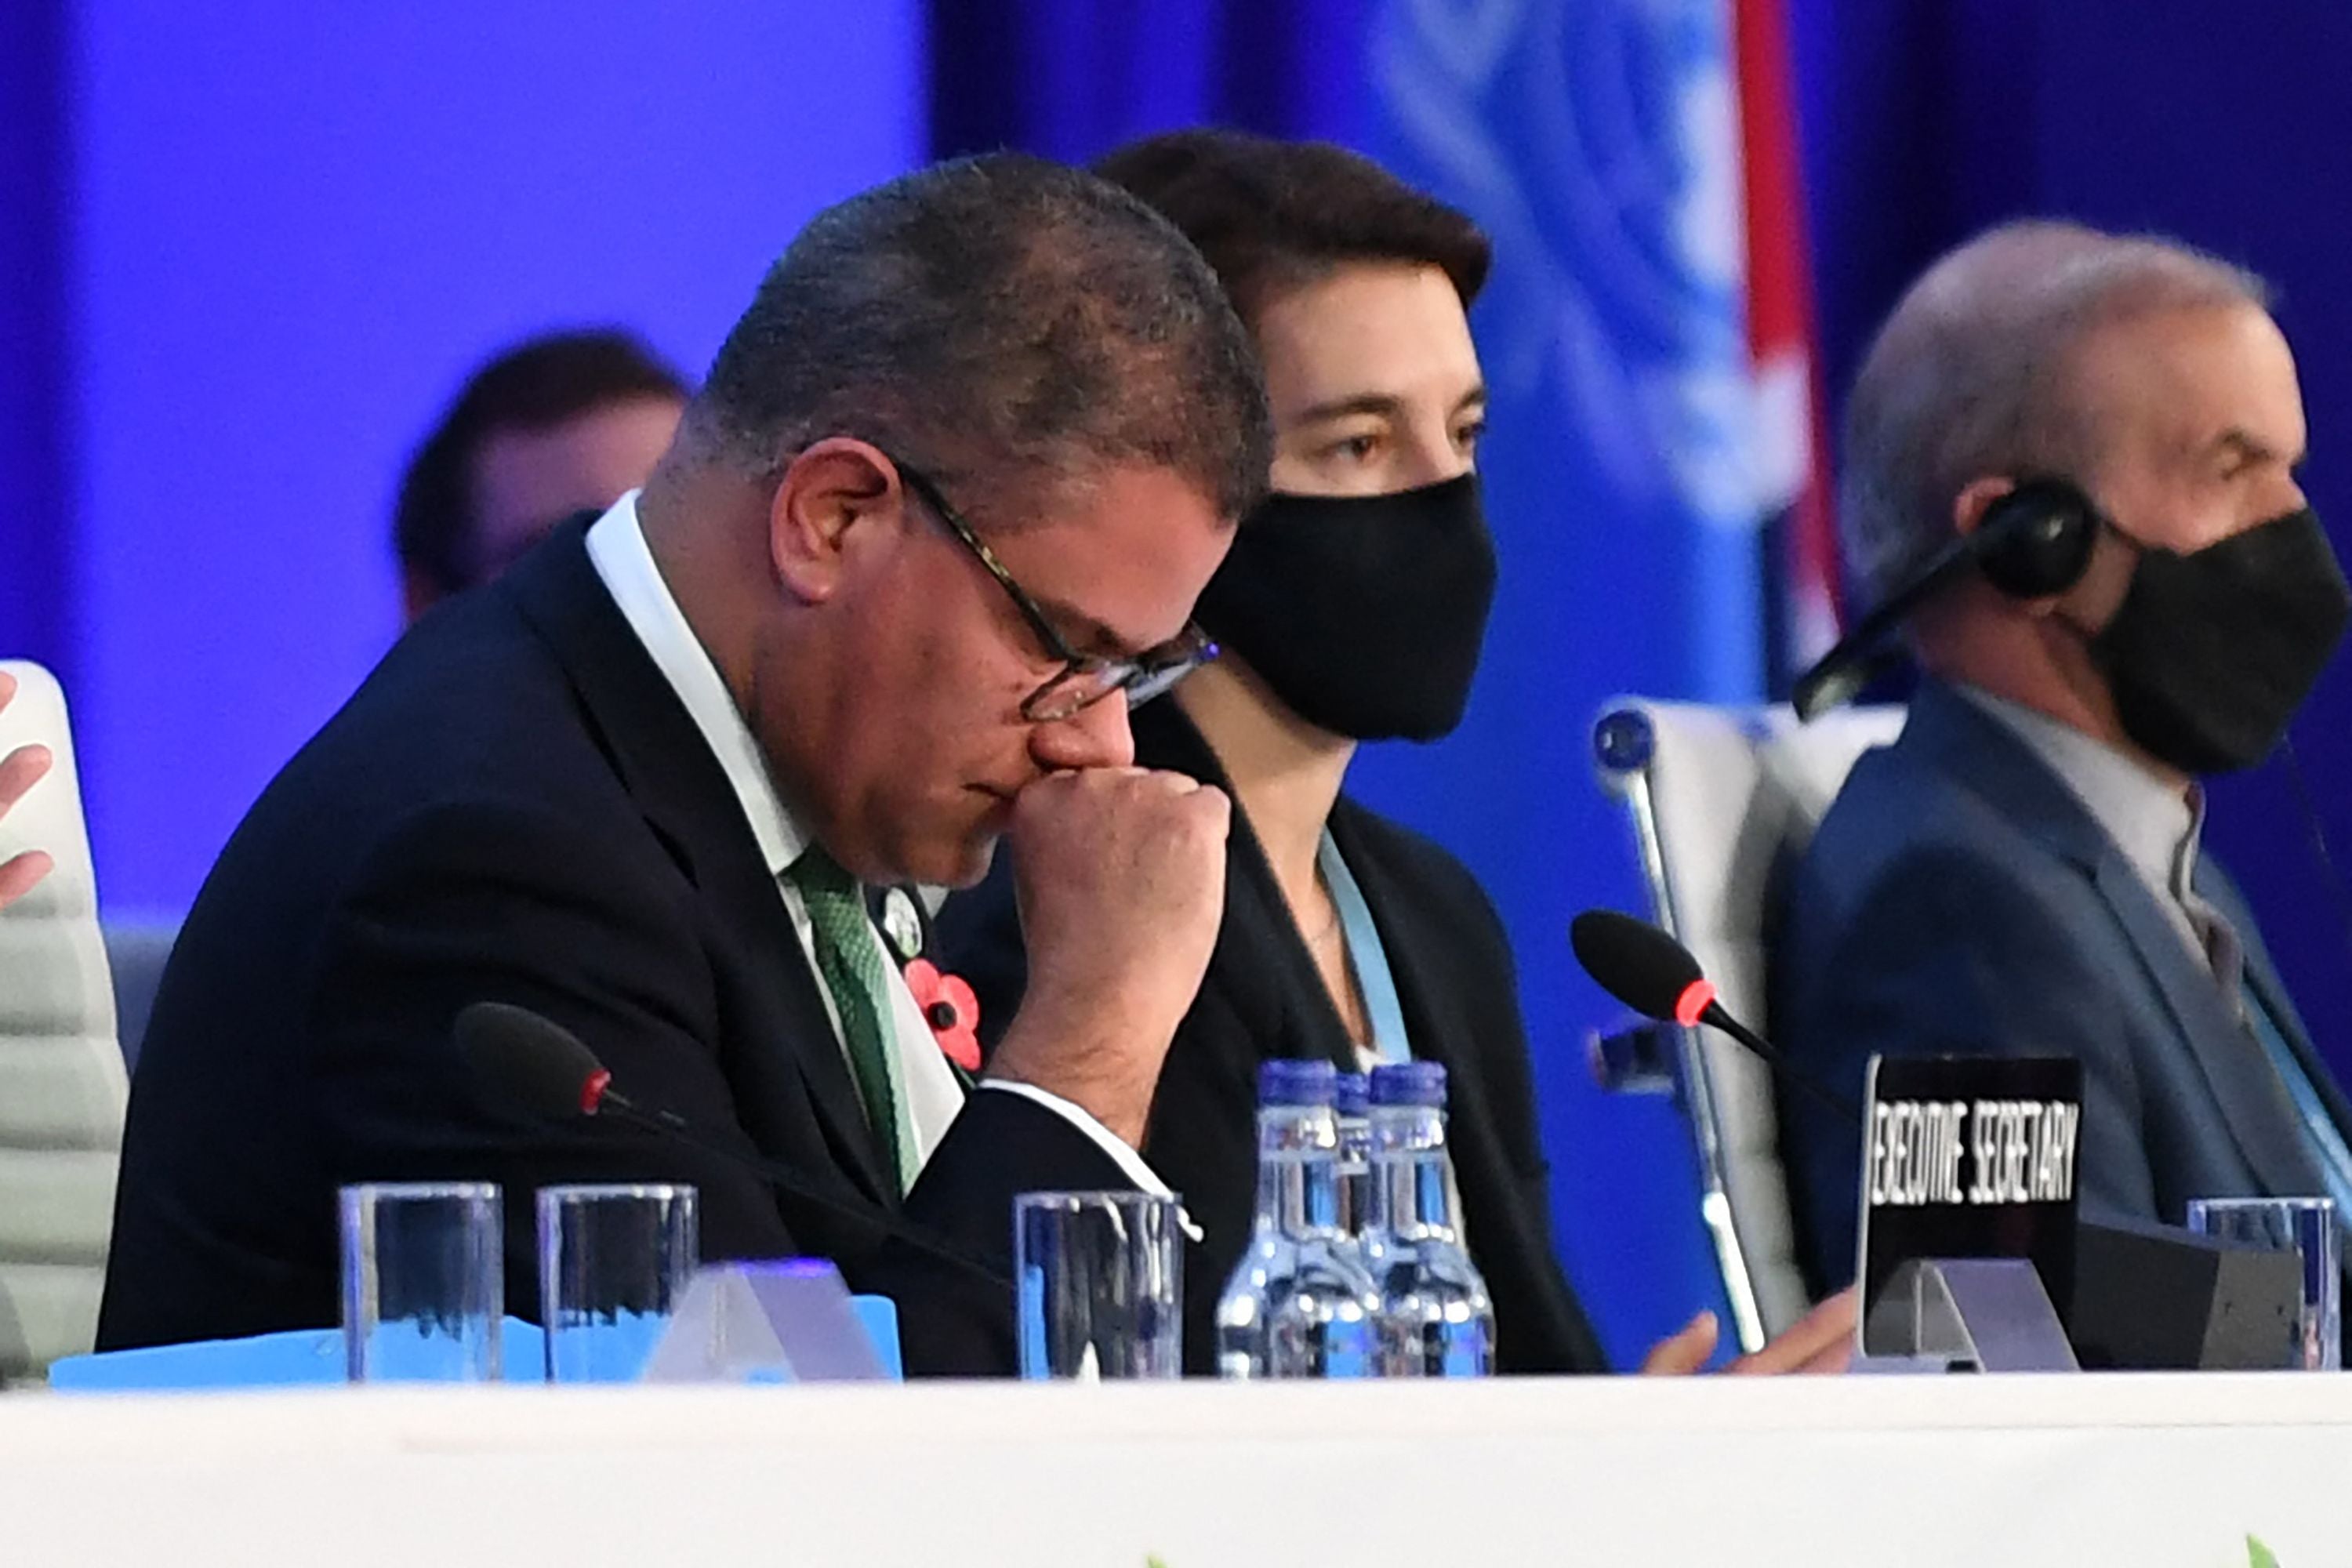
<path id="1" fill-rule="evenodd" d="M 694 1187 L 541 1187 L 548 1382 L 633 1382 L 694 1262 Z"/>

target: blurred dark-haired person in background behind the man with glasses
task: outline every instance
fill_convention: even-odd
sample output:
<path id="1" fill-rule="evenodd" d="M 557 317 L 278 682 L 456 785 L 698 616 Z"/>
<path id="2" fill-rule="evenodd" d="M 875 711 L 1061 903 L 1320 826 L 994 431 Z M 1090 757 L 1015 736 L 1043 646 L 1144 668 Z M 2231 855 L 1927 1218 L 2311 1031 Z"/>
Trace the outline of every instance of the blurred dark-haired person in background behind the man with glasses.
<path id="1" fill-rule="evenodd" d="M 477 369 L 400 480 L 393 548 L 407 618 L 515 564 L 574 512 L 644 484 L 687 383 L 633 334 L 515 343 Z"/>

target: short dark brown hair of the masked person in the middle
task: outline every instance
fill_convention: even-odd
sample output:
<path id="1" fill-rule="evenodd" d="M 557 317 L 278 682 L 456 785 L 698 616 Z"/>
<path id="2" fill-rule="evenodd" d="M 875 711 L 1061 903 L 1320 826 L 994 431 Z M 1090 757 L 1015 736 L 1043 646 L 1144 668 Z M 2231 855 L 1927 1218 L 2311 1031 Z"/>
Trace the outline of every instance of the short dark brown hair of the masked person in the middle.
<path id="1" fill-rule="evenodd" d="M 1465 214 L 1329 141 L 1169 132 L 1105 153 L 1094 172 L 1181 228 L 1251 324 L 1272 296 L 1350 261 L 1435 266 L 1468 308 L 1494 261 Z"/>

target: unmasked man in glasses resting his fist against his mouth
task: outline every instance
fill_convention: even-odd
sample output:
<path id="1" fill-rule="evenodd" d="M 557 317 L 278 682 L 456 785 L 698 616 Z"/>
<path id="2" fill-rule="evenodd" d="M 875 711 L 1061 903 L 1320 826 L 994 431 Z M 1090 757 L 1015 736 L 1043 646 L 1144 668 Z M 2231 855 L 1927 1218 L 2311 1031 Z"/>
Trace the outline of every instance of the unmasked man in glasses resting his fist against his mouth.
<path id="1" fill-rule="evenodd" d="M 132 1091 L 101 1345 L 332 1324 L 355 1180 L 499 1180 L 529 1312 L 532 1192 L 663 1178 L 706 1255 L 891 1293 L 910 1371 L 1009 1368 L 1011 1194 L 1160 1187 L 1134 1145 L 1228 802 L 1131 766 L 1127 708 L 1209 654 L 1190 607 L 1268 440 L 1216 280 L 1110 186 L 1000 155 L 821 214 L 644 489 L 419 625 L 221 856 Z M 971 1084 L 896 889 L 997 839 L 1033 983 Z M 830 1201 L 499 1107 L 452 1044 L 475 1001 Z"/>

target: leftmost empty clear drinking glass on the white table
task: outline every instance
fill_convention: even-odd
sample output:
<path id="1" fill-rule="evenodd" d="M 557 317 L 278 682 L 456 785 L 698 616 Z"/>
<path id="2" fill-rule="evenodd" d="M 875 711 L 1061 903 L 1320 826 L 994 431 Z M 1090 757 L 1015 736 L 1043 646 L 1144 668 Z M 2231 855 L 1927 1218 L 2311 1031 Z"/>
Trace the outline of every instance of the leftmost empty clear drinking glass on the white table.
<path id="1" fill-rule="evenodd" d="M 343 1187 L 353 1382 L 489 1382 L 506 1312 L 496 1182 Z"/>

